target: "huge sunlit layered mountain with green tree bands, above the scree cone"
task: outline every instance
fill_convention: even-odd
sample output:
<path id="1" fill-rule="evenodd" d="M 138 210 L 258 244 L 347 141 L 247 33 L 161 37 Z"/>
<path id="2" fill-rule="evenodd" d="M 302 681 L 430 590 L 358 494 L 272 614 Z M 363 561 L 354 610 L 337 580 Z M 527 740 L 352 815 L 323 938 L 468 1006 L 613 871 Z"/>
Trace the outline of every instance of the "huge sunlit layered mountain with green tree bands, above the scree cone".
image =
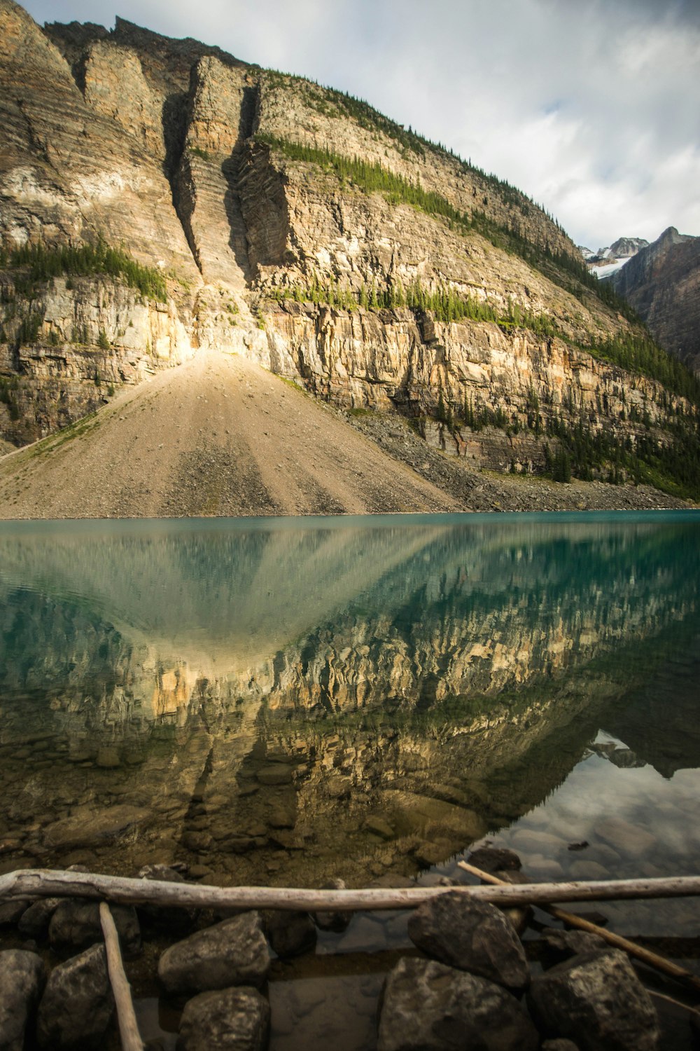
<path id="1" fill-rule="evenodd" d="M 413 466 L 449 489 L 431 451 L 462 489 L 486 468 L 700 493 L 687 371 L 542 208 L 365 102 L 123 19 L 42 29 L 0 0 L 0 128 L 6 448 L 212 352 L 395 459 L 424 440 Z"/>

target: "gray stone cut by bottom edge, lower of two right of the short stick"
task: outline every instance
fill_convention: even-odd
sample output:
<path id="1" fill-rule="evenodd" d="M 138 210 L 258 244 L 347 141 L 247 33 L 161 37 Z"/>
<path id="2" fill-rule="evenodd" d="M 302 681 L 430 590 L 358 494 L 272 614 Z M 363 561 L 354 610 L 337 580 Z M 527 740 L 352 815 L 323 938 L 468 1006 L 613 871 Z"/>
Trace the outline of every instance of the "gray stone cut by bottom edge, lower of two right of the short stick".
<path id="1" fill-rule="evenodd" d="M 264 1051 L 270 1040 L 270 1005 L 248 986 L 203 992 L 183 1011 L 177 1051 Z"/>

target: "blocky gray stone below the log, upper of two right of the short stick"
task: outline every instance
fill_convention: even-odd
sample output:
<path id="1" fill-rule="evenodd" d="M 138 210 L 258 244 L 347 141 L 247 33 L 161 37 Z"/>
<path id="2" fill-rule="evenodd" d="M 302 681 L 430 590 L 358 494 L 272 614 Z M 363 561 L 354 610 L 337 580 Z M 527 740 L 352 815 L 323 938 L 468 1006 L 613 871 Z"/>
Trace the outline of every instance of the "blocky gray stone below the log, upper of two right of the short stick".
<path id="1" fill-rule="evenodd" d="M 177 942 L 161 956 L 158 977 L 168 992 L 204 992 L 234 985 L 260 986 L 270 952 L 257 912 L 242 915 Z"/>

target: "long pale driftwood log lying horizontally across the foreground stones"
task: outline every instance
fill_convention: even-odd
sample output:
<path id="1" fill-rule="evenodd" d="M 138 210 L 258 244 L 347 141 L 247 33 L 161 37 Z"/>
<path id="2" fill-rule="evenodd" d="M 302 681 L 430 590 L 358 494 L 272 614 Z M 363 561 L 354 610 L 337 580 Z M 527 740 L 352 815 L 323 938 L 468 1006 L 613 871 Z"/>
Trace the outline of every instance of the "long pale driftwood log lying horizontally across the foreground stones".
<path id="1" fill-rule="evenodd" d="M 0 901 L 15 898 L 97 898 L 125 905 L 183 908 L 292 909 L 306 912 L 412 909 L 448 891 L 495 905 L 681 898 L 700 894 L 700 877 L 660 880 L 601 880 L 590 883 L 529 883 L 486 887 L 377 887 L 363 890 L 298 890 L 290 887 L 212 887 L 92 872 L 19 869 L 0 875 Z"/>

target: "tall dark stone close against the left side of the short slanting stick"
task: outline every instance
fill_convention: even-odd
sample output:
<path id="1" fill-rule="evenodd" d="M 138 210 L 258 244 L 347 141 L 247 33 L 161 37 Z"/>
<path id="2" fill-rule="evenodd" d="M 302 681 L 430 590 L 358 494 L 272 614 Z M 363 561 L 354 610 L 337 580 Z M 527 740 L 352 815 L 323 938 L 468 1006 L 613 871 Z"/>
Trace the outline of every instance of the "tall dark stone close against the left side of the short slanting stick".
<path id="1" fill-rule="evenodd" d="M 56 967 L 39 1005 L 42 1048 L 98 1048 L 114 1009 L 103 945 Z"/>

